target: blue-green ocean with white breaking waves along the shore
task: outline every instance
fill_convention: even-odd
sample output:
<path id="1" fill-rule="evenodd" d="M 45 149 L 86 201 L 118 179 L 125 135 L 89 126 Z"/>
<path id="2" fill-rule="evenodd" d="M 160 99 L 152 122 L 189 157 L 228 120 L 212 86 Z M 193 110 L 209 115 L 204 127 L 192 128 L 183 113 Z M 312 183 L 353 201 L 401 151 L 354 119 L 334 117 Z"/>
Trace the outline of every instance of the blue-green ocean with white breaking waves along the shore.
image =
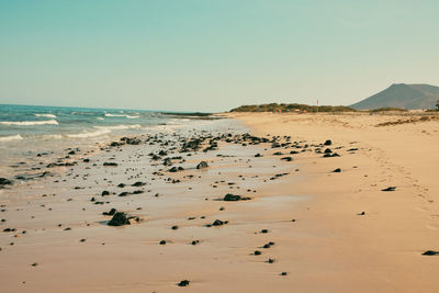
<path id="1" fill-rule="evenodd" d="M 207 123 L 153 111 L 0 104 L 0 177 L 37 170 L 68 148 Z M 46 158 L 46 161 L 42 161 Z"/>

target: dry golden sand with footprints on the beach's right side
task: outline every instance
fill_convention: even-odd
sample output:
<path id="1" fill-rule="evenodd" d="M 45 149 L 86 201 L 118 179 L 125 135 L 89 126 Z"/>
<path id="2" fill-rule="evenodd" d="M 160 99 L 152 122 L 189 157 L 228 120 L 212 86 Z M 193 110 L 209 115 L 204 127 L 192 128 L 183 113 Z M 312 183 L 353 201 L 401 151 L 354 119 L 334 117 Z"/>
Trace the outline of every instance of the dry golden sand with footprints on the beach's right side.
<path id="1" fill-rule="evenodd" d="M 257 135 L 342 146 L 341 157 L 299 155 L 306 174 L 294 192 L 309 200 L 289 258 L 297 292 L 438 292 L 439 122 L 369 114 L 229 114 Z M 416 115 L 415 115 L 416 116 Z M 349 155 L 349 148 L 358 151 Z M 333 148 L 334 149 L 334 148 Z M 331 173 L 340 168 L 340 173 Z M 382 192 L 396 187 L 394 192 Z M 306 206 L 306 207 L 305 207 Z M 358 216 L 358 213 L 365 215 Z"/>

